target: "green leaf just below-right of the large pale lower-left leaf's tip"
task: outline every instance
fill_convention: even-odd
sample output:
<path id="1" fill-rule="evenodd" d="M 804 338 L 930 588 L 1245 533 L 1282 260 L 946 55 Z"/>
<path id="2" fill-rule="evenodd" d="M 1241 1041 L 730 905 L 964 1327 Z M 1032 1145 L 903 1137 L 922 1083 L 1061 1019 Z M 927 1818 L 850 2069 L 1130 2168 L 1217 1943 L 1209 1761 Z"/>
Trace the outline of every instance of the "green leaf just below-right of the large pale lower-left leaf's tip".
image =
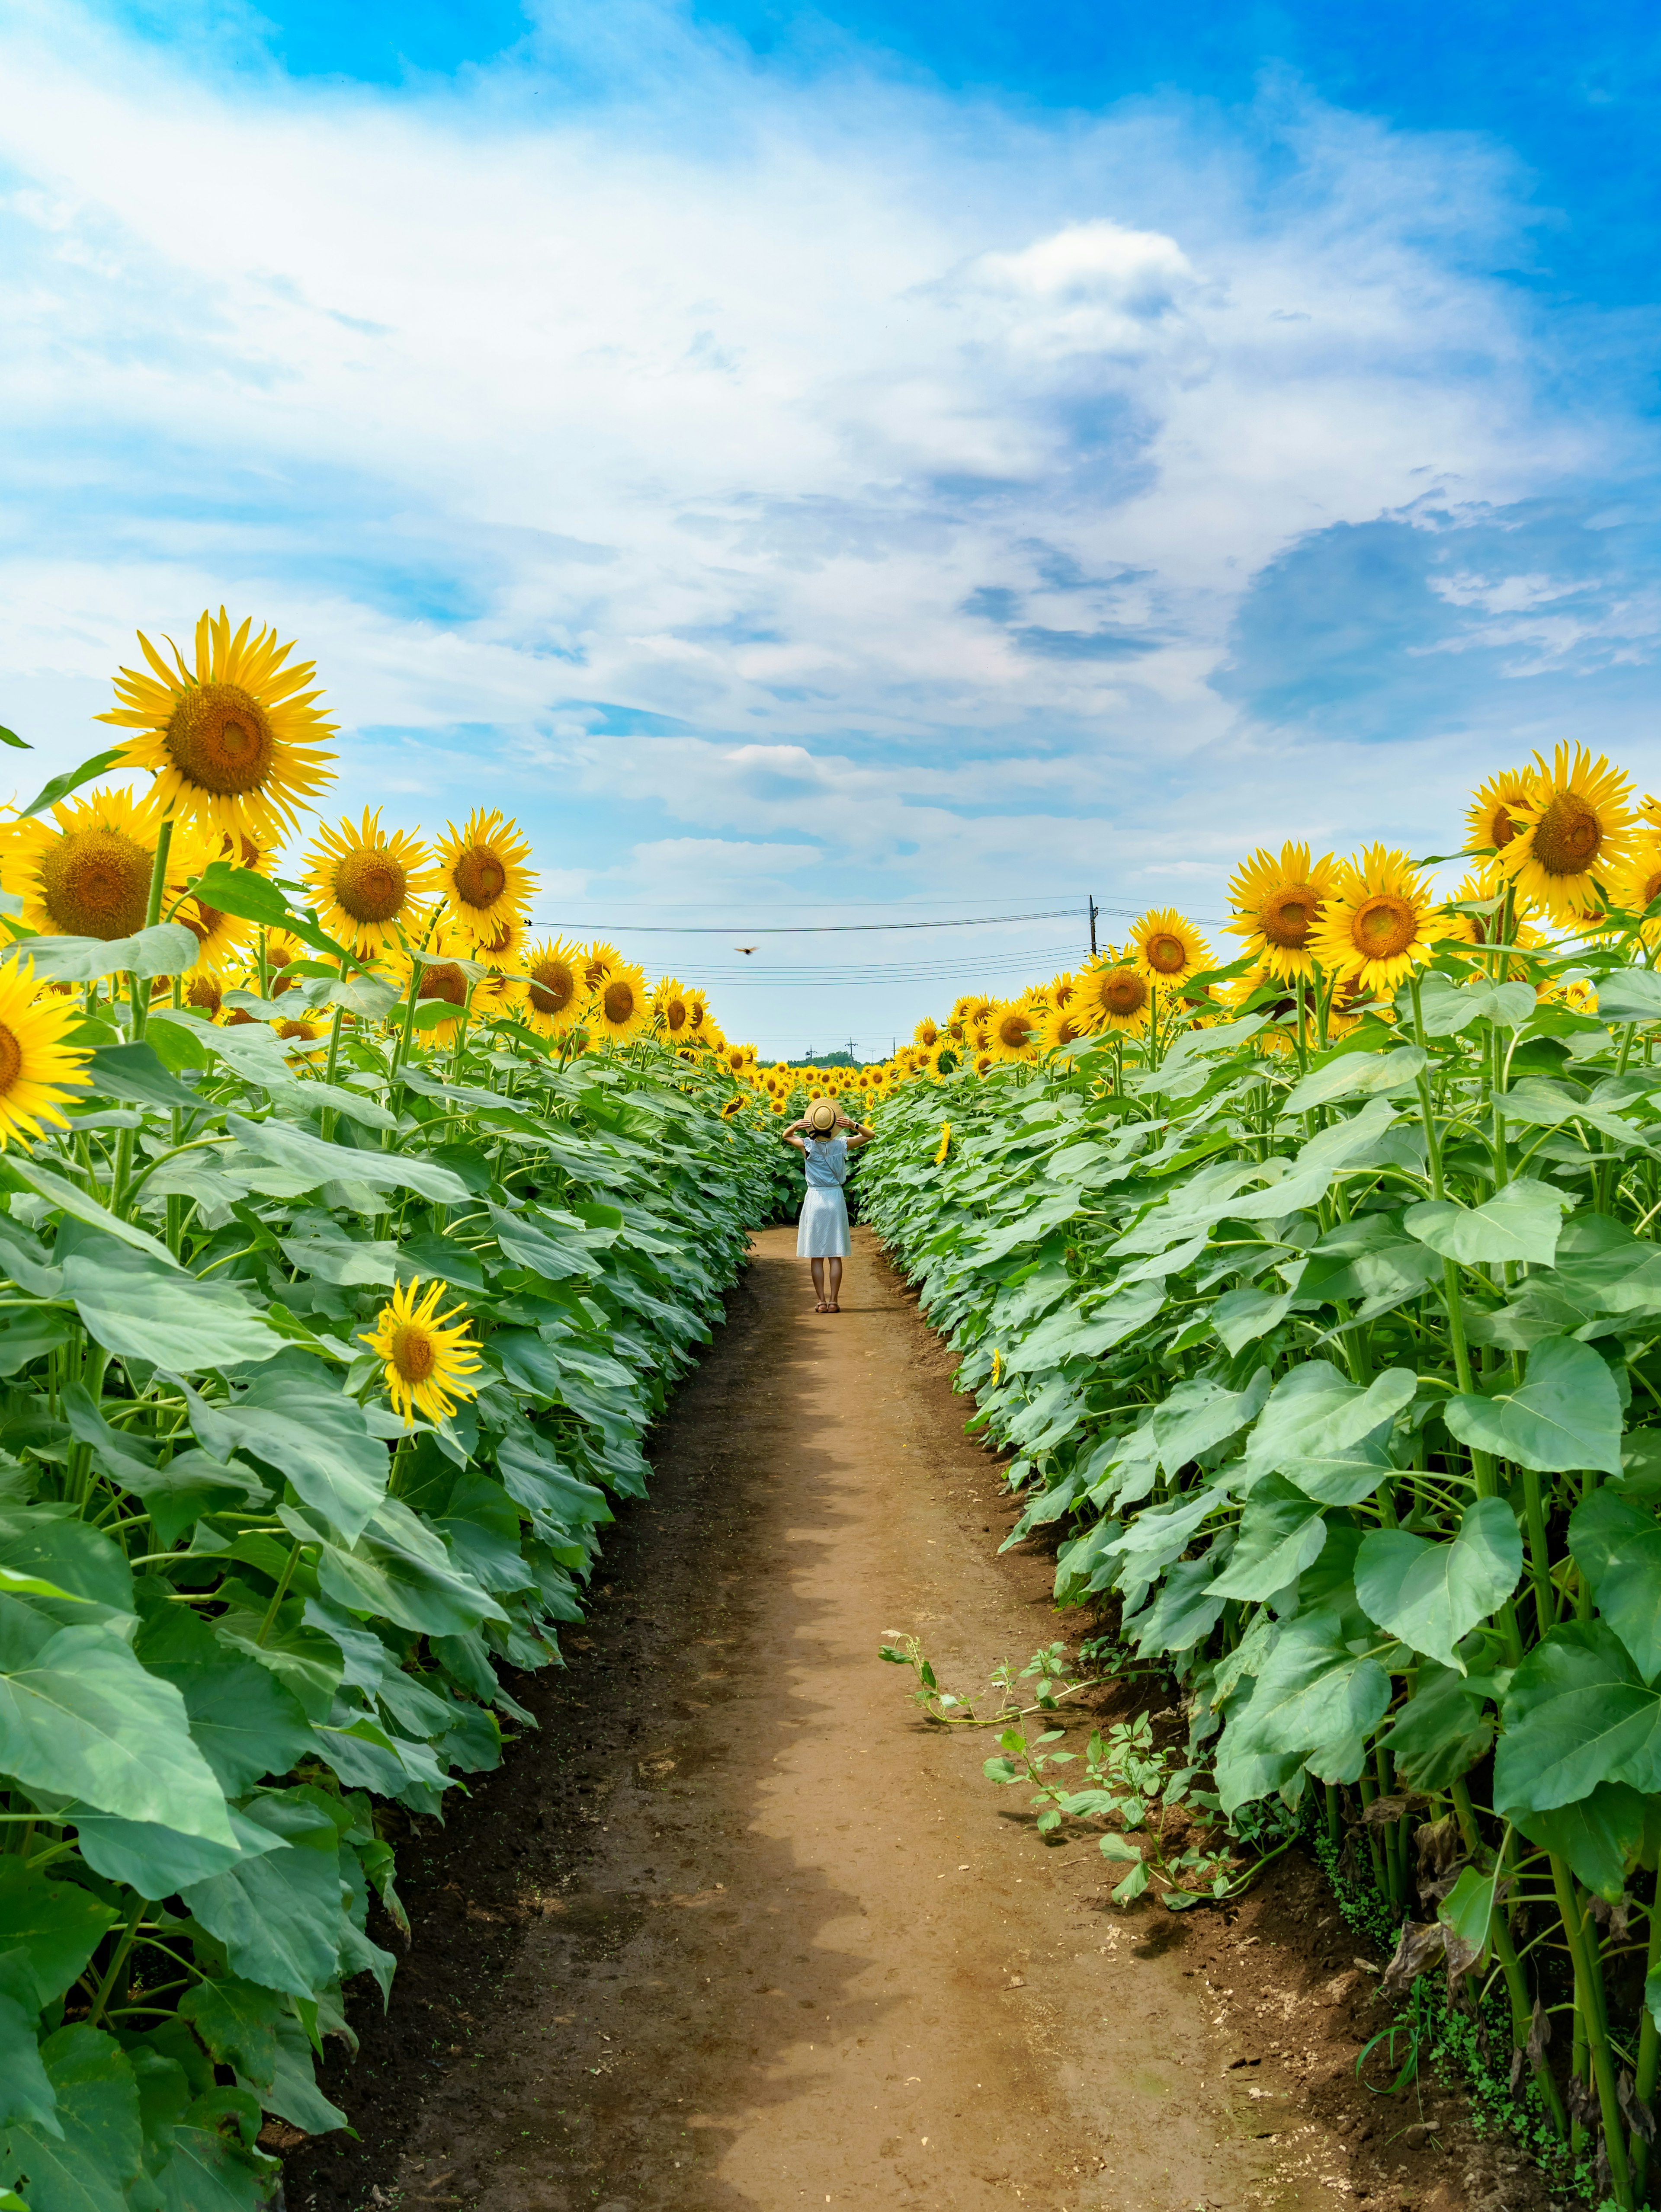
<path id="1" fill-rule="evenodd" d="M 195 1882 L 181 1891 L 184 1902 L 226 1947 L 241 1980 L 316 1997 L 334 1980 L 341 1951 L 338 1829 L 296 1796 L 259 1796 L 243 1809 L 288 1849 Z"/>

